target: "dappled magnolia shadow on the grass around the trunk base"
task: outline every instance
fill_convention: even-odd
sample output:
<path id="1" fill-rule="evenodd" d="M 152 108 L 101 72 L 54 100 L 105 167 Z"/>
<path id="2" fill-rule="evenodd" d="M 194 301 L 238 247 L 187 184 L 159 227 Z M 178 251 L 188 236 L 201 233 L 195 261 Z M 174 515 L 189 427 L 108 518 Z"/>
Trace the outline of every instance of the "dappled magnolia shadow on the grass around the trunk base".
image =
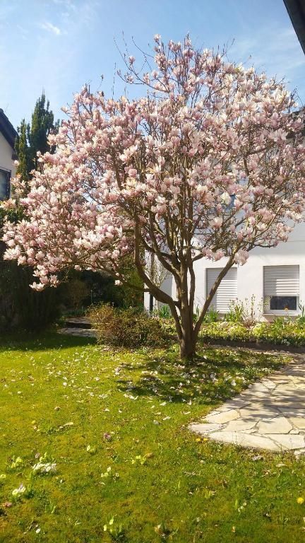
<path id="1" fill-rule="evenodd" d="M 136 364 L 122 363 L 119 373 L 123 375 L 116 383 L 119 390 L 133 396 L 213 405 L 280 366 L 282 359 L 273 355 L 209 347 L 188 365 L 173 352 L 143 356 Z"/>

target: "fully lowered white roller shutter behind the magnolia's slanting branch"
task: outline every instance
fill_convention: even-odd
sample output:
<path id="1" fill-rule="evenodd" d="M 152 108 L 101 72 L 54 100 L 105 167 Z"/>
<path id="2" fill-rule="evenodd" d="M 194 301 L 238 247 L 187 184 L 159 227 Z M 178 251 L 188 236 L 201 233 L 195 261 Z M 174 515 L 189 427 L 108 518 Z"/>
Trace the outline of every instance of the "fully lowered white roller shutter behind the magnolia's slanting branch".
<path id="1" fill-rule="evenodd" d="M 222 268 L 208 268 L 206 277 L 207 296 Z M 231 303 L 237 299 L 237 268 L 231 268 L 218 286 L 211 306 L 220 313 L 227 313 Z"/>

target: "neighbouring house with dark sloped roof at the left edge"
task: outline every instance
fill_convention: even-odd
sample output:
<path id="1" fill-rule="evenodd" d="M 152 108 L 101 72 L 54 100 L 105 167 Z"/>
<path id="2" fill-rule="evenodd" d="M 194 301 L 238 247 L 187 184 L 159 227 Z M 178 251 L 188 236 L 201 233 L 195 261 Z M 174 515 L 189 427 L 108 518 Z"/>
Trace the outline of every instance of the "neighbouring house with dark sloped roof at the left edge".
<path id="1" fill-rule="evenodd" d="M 0 200 L 10 197 L 11 177 L 16 173 L 15 140 L 17 132 L 0 109 Z"/>

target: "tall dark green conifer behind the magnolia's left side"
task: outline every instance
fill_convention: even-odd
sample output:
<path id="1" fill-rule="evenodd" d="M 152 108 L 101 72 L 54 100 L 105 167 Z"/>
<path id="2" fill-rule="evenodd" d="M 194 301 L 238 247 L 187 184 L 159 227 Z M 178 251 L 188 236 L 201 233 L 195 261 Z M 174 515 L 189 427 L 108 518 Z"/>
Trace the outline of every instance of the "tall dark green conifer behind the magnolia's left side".
<path id="1" fill-rule="evenodd" d="M 37 168 L 37 151 L 41 153 L 54 152 L 48 144 L 48 136 L 59 129 L 59 121 L 54 122 L 54 113 L 49 109 L 44 93 L 37 99 L 32 113 L 31 122 L 22 119 L 17 129 L 15 150 L 18 158 L 16 173 L 25 182 L 25 195 L 28 192 L 28 182 L 32 178 L 32 170 Z M 1 222 L 4 218 L 1 212 Z M 6 214 L 9 221 L 15 222 L 22 216 L 18 212 Z M 0 247 L 3 252 L 3 247 Z M 18 324 L 23 328 L 34 330 L 47 326 L 58 314 L 61 293 L 53 288 L 47 288 L 42 296 L 32 291 L 29 284 L 33 281 L 30 267 L 17 266 L 16 263 L 0 262 L 0 329 Z"/>

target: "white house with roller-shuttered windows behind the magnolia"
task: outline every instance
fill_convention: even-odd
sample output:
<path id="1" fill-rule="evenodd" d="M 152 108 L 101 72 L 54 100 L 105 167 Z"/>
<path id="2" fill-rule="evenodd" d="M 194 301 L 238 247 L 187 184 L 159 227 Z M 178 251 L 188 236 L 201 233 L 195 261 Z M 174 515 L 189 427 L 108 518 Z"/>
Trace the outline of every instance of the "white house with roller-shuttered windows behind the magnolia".
<path id="1" fill-rule="evenodd" d="M 203 306 L 225 263 L 225 259 L 217 262 L 201 259 L 195 263 L 195 306 Z M 164 281 L 162 289 L 175 296 L 172 277 Z M 255 296 L 256 308 L 261 308 L 263 320 L 270 320 L 275 315 L 300 313 L 299 305 L 305 305 L 305 223 L 294 228 L 287 243 L 280 243 L 272 249 L 256 248 L 250 252 L 244 266 L 232 267 L 222 279 L 211 306 L 220 315 L 225 315 L 232 302 L 245 302 L 251 296 Z M 155 307 L 148 293 L 144 303 L 148 310 Z"/>

